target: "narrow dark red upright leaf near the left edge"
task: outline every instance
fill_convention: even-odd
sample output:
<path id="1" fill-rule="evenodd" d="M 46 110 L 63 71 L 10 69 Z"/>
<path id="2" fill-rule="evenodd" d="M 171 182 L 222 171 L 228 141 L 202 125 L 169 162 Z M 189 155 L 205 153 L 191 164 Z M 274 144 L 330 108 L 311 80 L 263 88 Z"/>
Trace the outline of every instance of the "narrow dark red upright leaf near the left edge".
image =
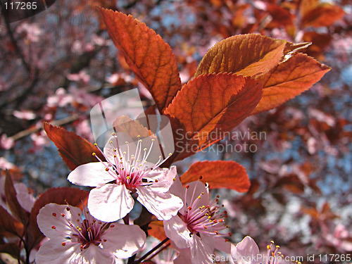
<path id="1" fill-rule="evenodd" d="M 10 172 L 8 171 L 6 172 L 4 189 L 8 208 L 10 208 L 13 216 L 26 226 L 29 219 L 29 214 L 25 209 L 22 208 L 22 206 L 20 206 L 20 203 L 18 203 L 17 193 L 15 187 L 13 186 Z"/>

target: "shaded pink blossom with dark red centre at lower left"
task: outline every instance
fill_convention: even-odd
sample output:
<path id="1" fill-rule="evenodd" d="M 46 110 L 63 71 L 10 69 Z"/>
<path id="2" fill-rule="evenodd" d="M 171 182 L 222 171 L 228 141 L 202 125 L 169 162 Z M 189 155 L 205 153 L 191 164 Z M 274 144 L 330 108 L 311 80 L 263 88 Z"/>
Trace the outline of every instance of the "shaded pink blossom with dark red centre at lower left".
<path id="1" fill-rule="evenodd" d="M 87 208 L 49 203 L 37 216 L 49 238 L 36 254 L 38 264 L 115 264 L 142 249 L 146 235 L 137 225 L 96 220 Z"/>

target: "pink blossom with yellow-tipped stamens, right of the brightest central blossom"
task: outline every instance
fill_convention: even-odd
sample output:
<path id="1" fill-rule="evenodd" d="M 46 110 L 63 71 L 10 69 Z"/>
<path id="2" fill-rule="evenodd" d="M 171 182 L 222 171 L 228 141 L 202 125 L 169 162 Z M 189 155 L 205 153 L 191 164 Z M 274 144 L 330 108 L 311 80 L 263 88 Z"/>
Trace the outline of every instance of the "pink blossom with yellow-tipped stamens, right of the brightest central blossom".
<path id="1" fill-rule="evenodd" d="M 208 187 L 201 182 L 191 182 L 182 188 L 181 182 L 176 181 L 171 191 L 183 197 L 184 206 L 178 215 L 164 221 L 164 229 L 181 249 L 180 258 L 188 258 L 193 264 L 206 264 L 212 263 L 214 249 L 230 253 L 231 244 L 225 239 L 231 235 L 225 231 L 227 213 L 220 210 L 218 197 L 210 201 Z"/>

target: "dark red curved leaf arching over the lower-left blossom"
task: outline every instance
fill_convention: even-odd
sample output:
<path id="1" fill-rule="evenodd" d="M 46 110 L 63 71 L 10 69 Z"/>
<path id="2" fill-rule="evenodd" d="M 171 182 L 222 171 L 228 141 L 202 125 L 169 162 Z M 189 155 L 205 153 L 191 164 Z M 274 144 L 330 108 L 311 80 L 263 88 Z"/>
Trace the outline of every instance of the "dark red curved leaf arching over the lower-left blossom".
<path id="1" fill-rule="evenodd" d="M 31 247 L 39 243 L 42 238 L 42 232 L 40 232 L 37 225 L 37 215 L 39 210 L 48 203 L 58 203 L 58 204 L 70 204 L 71 206 L 82 206 L 88 197 L 89 192 L 78 188 L 51 188 L 44 192 L 37 201 L 35 201 L 34 206 L 30 212 L 30 236 L 29 244 Z"/>

